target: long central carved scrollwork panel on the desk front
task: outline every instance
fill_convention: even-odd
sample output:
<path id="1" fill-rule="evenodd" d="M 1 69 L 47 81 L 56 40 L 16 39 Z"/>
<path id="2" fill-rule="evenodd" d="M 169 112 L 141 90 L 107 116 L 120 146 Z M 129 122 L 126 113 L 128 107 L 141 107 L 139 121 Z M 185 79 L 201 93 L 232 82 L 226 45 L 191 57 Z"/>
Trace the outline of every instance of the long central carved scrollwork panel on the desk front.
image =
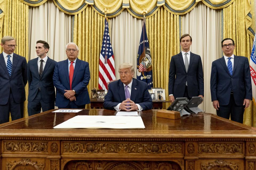
<path id="1" fill-rule="evenodd" d="M 182 143 L 63 143 L 65 153 L 182 153 Z"/>

